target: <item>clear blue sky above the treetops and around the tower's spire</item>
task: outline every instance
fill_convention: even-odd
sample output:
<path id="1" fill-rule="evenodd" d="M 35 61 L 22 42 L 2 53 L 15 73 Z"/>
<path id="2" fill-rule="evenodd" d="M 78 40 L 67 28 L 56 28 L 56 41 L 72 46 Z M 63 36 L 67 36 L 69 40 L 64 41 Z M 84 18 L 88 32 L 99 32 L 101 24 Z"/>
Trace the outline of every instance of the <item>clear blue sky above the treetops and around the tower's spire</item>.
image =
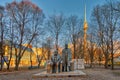
<path id="1" fill-rule="evenodd" d="M 14 0 L 1 0 L 0 5 L 12 2 Z M 21 0 L 16 0 L 21 1 Z M 87 7 L 87 19 L 90 20 L 92 9 L 97 4 L 103 4 L 106 0 L 30 0 L 38 5 L 46 16 L 54 13 L 63 13 L 65 15 L 78 15 L 84 17 L 84 6 Z"/>

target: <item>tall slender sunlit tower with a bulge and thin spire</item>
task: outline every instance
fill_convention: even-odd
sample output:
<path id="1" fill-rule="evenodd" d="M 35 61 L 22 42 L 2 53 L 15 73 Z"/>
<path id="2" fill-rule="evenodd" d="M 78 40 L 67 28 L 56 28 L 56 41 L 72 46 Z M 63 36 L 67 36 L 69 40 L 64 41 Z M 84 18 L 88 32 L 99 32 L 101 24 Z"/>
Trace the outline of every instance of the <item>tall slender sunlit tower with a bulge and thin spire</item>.
<path id="1" fill-rule="evenodd" d="M 88 29 L 88 24 L 87 24 L 87 19 L 86 19 L 86 5 L 85 5 L 85 12 L 84 12 L 84 25 L 83 25 L 83 30 L 84 30 L 84 38 L 83 38 L 83 58 L 84 55 L 87 52 L 87 29 Z"/>

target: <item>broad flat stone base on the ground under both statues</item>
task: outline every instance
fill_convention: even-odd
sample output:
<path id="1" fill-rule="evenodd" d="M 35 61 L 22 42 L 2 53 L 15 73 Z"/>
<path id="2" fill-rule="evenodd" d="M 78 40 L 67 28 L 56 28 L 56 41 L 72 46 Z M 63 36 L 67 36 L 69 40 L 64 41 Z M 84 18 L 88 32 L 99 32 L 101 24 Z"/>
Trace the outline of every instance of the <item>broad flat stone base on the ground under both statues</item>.
<path id="1" fill-rule="evenodd" d="M 53 73 L 49 74 L 46 71 L 33 74 L 32 80 L 74 80 L 75 78 L 82 80 L 81 78 L 86 78 L 87 75 L 81 70 L 69 71 L 69 72 L 61 72 L 61 73 Z M 86 79 L 83 79 L 86 80 Z"/>

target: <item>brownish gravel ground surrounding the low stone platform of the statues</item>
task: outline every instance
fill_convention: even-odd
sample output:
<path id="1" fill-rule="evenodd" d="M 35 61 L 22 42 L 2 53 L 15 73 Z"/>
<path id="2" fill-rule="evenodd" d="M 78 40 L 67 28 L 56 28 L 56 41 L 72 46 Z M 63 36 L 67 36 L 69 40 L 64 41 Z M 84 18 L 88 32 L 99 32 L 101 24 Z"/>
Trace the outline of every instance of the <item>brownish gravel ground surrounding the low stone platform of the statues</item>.
<path id="1" fill-rule="evenodd" d="M 43 70 L 30 70 L 18 72 L 0 73 L 0 80 L 33 80 L 32 74 L 39 73 Z M 93 68 L 82 70 L 87 77 L 70 77 L 70 78 L 44 78 L 35 80 L 120 80 L 120 69 L 110 70 L 103 68 Z"/>

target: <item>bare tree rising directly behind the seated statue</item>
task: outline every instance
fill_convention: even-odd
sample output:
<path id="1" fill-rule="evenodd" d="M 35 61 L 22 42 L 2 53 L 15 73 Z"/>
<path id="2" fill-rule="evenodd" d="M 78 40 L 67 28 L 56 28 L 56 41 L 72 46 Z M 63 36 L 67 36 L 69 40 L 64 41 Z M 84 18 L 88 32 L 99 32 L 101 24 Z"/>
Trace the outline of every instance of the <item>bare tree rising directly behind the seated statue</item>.
<path id="1" fill-rule="evenodd" d="M 64 23 L 65 18 L 62 14 L 50 16 L 46 23 L 48 31 L 50 31 L 52 37 L 55 37 L 56 50 L 58 50 L 59 35 L 61 34 Z"/>

